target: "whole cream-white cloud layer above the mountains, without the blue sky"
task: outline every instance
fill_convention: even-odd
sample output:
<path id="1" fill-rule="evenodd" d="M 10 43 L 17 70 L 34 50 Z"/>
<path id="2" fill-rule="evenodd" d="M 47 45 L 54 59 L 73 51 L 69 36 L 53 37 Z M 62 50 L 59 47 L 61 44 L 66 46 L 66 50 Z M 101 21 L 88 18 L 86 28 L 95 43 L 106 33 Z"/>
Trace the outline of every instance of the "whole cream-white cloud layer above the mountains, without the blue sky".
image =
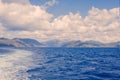
<path id="1" fill-rule="evenodd" d="M 29 0 L 1 0 L 0 37 L 120 41 L 119 8 L 100 10 L 92 7 L 84 18 L 80 13 L 72 12 L 54 18 L 46 9 L 56 3 L 51 0 L 36 6 Z"/>

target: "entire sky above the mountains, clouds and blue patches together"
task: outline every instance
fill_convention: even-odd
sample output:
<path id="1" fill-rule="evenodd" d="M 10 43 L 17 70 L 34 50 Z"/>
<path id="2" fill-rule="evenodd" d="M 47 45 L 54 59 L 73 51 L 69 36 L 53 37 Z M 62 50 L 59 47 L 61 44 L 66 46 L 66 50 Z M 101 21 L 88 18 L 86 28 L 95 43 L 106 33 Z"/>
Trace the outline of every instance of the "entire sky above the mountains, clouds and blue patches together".
<path id="1" fill-rule="evenodd" d="M 120 41 L 120 0 L 0 0 L 0 37 Z"/>

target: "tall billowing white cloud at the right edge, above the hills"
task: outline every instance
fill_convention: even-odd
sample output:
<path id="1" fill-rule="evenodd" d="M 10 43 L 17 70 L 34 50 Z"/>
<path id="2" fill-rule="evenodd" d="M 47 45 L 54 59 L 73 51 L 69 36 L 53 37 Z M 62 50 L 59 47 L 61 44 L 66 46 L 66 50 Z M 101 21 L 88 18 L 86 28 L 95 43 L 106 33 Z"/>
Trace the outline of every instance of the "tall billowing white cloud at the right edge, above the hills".
<path id="1" fill-rule="evenodd" d="M 119 8 L 110 10 L 92 8 L 85 17 L 84 23 L 89 27 L 87 32 L 92 40 L 103 42 L 120 41 Z"/>

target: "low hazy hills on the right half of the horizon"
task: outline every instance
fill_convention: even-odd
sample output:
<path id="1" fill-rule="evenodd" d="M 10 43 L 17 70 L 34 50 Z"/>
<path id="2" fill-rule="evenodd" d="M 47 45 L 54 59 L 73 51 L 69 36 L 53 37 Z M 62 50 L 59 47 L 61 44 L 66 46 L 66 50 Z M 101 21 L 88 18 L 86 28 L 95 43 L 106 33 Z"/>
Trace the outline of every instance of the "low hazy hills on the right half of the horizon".
<path id="1" fill-rule="evenodd" d="M 62 47 L 120 47 L 120 42 L 101 43 L 98 41 L 70 41 L 64 43 Z"/>

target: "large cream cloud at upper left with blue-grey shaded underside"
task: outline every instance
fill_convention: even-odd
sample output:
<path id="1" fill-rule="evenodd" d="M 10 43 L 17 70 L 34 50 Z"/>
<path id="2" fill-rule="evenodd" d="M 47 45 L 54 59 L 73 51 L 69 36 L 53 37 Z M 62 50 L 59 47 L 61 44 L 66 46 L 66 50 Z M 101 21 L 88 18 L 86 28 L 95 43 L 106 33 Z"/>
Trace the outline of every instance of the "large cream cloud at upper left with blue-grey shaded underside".
<path id="1" fill-rule="evenodd" d="M 39 6 L 0 3 L 0 21 L 8 29 L 46 29 L 52 16 Z"/>

